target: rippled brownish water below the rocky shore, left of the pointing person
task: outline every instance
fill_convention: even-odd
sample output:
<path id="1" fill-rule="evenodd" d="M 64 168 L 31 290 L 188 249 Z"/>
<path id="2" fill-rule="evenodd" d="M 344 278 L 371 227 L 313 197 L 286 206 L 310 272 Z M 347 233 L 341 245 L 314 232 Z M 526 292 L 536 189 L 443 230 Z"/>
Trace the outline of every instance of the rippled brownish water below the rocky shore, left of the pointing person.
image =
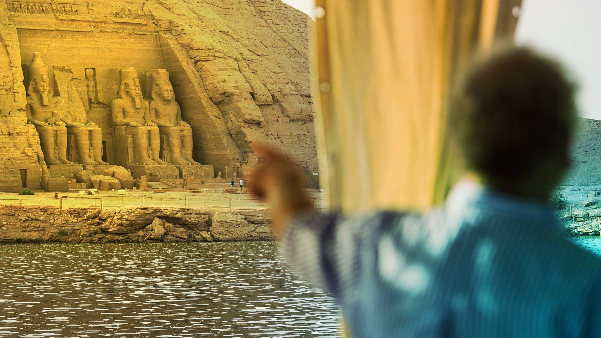
<path id="1" fill-rule="evenodd" d="M 0 337 L 337 337 L 275 246 L 0 245 Z"/>

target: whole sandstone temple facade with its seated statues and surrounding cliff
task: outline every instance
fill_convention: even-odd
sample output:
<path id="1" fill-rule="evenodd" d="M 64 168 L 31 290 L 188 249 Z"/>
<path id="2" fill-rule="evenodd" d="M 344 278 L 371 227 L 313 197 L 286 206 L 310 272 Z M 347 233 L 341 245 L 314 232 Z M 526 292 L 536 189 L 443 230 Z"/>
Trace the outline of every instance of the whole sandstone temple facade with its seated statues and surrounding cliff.
<path id="1" fill-rule="evenodd" d="M 279 0 L 0 0 L 0 191 L 244 177 L 253 141 L 317 172 L 307 25 Z"/>

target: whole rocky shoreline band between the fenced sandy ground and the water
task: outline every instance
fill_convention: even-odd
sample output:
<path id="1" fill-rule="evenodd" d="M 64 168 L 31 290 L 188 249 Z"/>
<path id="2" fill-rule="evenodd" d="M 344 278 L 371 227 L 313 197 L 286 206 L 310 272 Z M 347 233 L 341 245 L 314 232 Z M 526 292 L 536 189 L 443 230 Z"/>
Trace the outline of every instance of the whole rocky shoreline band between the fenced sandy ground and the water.
<path id="1" fill-rule="evenodd" d="M 2 207 L 0 243 L 153 243 L 273 240 L 265 209 Z"/>

